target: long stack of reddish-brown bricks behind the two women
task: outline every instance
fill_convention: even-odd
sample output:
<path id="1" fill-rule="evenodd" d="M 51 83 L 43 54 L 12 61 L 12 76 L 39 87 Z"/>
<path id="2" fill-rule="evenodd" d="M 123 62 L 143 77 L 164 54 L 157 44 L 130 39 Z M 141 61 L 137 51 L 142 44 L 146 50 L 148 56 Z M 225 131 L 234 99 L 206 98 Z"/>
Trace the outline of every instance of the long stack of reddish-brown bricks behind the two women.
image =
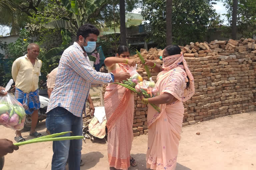
<path id="1" fill-rule="evenodd" d="M 180 46 L 195 79 L 195 94 L 184 102 L 183 126 L 210 119 L 255 111 L 256 104 L 256 43 L 253 39 L 238 41 L 191 42 Z M 144 58 L 162 64 L 161 49 L 143 52 Z M 152 53 L 153 51 L 153 53 Z M 156 52 L 157 51 L 157 52 Z M 158 53 L 158 54 L 157 54 Z M 153 57 L 153 56 L 154 57 Z M 138 73 L 147 80 L 137 55 Z M 156 82 L 157 73 L 151 70 Z M 103 95 L 106 85 L 103 85 Z M 134 94 L 134 136 L 147 134 L 147 106 Z"/>

